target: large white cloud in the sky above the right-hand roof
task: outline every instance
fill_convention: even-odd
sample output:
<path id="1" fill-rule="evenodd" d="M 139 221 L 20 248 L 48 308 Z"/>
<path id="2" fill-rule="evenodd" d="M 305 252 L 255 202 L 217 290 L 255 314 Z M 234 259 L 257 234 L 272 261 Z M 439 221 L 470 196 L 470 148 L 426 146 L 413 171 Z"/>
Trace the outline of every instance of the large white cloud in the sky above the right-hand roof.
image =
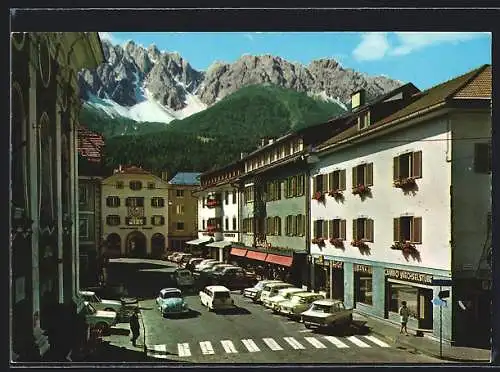
<path id="1" fill-rule="evenodd" d="M 395 43 L 390 44 L 385 32 L 367 32 L 352 52 L 358 61 L 373 61 L 387 55 L 402 56 L 431 45 L 457 44 L 481 37 L 491 37 L 489 32 L 395 32 Z"/>

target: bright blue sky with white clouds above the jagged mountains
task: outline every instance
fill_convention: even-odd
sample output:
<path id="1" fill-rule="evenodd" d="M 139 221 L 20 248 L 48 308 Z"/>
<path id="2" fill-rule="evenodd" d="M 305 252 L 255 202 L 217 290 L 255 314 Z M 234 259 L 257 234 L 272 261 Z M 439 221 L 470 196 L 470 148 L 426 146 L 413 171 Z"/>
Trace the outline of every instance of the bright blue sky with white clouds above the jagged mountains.
<path id="1" fill-rule="evenodd" d="M 412 82 L 421 90 L 491 63 L 491 34 L 471 32 L 101 32 L 122 44 L 155 44 L 193 68 L 272 54 L 308 65 L 334 58 L 344 68 Z"/>

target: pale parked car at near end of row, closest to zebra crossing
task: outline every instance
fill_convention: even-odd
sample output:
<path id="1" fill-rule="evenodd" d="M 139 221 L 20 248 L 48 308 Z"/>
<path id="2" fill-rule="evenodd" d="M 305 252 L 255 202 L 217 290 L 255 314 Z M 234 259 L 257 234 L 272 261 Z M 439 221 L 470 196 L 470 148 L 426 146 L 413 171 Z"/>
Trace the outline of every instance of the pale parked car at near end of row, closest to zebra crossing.
<path id="1" fill-rule="evenodd" d="M 306 328 L 333 327 L 352 323 L 352 308 L 346 309 L 340 300 L 317 300 L 301 314 Z"/>

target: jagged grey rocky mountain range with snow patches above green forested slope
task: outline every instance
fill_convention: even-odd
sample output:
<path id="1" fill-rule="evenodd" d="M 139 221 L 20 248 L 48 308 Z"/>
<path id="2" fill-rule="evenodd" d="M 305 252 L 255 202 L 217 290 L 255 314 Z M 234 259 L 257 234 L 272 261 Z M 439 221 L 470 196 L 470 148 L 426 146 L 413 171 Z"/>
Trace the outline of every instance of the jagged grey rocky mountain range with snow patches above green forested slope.
<path id="1" fill-rule="evenodd" d="M 102 44 L 107 63 L 79 76 L 85 105 L 138 122 L 183 119 L 253 84 L 275 84 L 344 107 L 355 90 L 364 88 L 370 99 L 403 84 L 344 69 L 333 59 L 305 66 L 271 55 L 243 55 L 234 63 L 214 62 L 207 71 L 197 71 L 178 53 L 160 52 L 154 45 Z"/>

